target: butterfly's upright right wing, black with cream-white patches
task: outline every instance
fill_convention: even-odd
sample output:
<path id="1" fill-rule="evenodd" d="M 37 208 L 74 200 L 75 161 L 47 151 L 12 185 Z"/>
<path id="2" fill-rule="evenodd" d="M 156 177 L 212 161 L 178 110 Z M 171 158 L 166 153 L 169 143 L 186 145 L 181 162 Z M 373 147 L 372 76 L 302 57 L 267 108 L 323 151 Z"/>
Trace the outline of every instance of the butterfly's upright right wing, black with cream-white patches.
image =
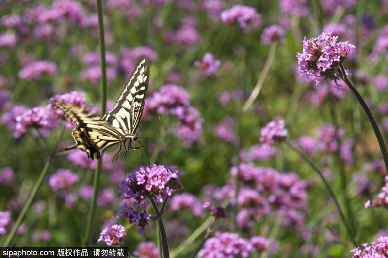
<path id="1" fill-rule="evenodd" d="M 113 109 L 102 118 L 124 135 L 135 136 L 148 91 L 149 62 L 142 58 L 129 77 Z"/>

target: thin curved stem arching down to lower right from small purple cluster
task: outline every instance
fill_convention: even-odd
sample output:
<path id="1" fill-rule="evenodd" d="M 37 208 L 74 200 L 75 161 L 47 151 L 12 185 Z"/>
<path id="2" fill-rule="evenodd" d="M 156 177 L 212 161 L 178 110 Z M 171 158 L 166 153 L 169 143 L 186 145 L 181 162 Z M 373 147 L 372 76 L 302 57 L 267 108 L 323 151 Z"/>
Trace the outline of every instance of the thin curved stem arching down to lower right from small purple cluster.
<path id="1" fill-rule="evenodd" d="M 333 198 L 333 201 L 334 201 L 334 204 L 336 205 L 337 207 L 337 210 L 338 210 L 338 213 L 339 213 L 339 216 L 341 217 L 341 220 L 343 222 L 343 224 L 345 225 L 347 231 L 348 231 L 348 234 L 350 236 L 350 238 L 352 239 L 352 242 L 355 246 L 357 246 L 357 243 L 356 243 L 356 240 L 354 238 L 354 232 L 353 230 L 351 229 L 351 227 L 349 226 L 347 220 L 345 219 L 345 216 L 341 210 L 341 206 L 339 205 L 339 202 L 337 200 L 337 197 L 336 195 L 334 194 L 333 190 L 331 189 L 330 187 L 330 184 L 326 181 L 326 179 L 323 177 L 321 171 L 318 169 L 318 167 L 315 166 L 315 164 L 310 160 L 310 158 L 306 155 L 305 152 L 302 152 L 300 151 L 299 149 L 297 149 L 296 147 L 294 147 L 291 142 L 289 141 L 285 141 L 285 143 L 287 144 L 288 147 L 290 147 L 293 151 L 297 152 L 303 160 L 305 160 L 307 162 L 307 164 L 315 171 L 318 173 L 319 177 L 322 179 L 324 185 L 326 186 L 326 189 L 327 191 L 329 191 L 329 194 L 330 196 Z"/>

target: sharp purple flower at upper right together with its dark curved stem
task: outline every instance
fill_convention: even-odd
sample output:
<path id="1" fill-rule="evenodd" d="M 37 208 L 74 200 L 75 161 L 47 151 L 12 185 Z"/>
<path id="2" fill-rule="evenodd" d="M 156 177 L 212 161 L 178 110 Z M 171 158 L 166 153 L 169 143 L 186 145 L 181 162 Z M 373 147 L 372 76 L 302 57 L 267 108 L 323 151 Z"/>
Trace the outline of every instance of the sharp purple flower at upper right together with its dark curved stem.
<path id="1" fill-rule="evenodd" d="M 316 84 L 325 79 L 334 80 L 336 83 L 338 79 L 341 79 L 346 83 L 356 96 L 357 101 L 364 109 L 364 112 L 372 125 L 374 134 L 376 135 L 380 146 L 380 151 L 383 154 L 386 173 L 388 175 L 388 153 L 380 129 L 371 110 L 361 97 L 360 93 L 356 90 L 356 87 L 348 77 L 348 71 L 343 66 L 343 62 L 351 49 L 355 48 L 355 46 L 349 44 L 347 41 L 337 42 L 337 39 L 337 36 L 332 36 L 332 32 L 323 32 L 318 38 L 309 40 L 305 38 L 303 41 L 302 53 L 297 53 L 296 55 L 301 74 L 312 76 L 313 79 L 316 79 Z M 336 87 L 339 88 L 341 85 L 337 83 Z"/>

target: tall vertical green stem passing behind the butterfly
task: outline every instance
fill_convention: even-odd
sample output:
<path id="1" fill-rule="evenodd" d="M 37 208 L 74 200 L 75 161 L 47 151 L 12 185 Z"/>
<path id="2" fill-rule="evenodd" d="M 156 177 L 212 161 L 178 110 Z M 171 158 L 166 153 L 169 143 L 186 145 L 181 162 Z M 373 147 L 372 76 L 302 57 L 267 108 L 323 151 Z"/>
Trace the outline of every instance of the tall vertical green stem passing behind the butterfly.
<path id="1" fill-rule="evenodd" d="M 104 41 L 104 21 L 102 15 L 101 0 L 97 1 L 97 14 L 98 14 L 98 32 L 100 40 L 100 59 L 101 59 L 101 113 L 106 113 L 106 63 L 105 63 L 105 41 Z M 89 216 L 86 224 L 86 232 L 84 245 L 87 246 L 90 242 L 90 232 L 93 225 L 93 219 L 95 217 L 97 194 L 99 189 L 100 175 L 101 175 L 101 163 L 102 157 L 97 162 L 96 171 L 93 179 L 93 197 L 90 202 Z"/>

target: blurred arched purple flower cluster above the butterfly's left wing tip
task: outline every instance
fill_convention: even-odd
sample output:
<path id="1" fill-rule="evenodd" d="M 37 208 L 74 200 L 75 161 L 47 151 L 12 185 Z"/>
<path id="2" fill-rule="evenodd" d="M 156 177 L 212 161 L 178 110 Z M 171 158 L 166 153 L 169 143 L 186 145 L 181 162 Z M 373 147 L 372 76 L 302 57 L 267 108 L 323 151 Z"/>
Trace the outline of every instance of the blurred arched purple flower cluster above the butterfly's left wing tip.
<path id="1" fill-rule="evenodd" d="M 22 80 L 39 80 L 42 74 L 55 74 L 57 72 L 57 65 L 54 62 L 40 60 L 32 62 L 24 66 L 18 73 Z"/>

